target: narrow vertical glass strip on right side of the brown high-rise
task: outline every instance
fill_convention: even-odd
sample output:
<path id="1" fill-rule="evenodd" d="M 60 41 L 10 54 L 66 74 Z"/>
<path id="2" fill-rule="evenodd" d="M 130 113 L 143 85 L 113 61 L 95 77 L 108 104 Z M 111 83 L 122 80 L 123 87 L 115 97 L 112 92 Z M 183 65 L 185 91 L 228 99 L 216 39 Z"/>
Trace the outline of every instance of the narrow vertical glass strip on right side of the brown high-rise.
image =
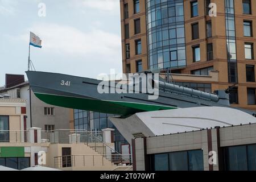
<path id="1" fill-rule="evenodd" d="M 226 44 L 228 50 L 228 78 L 229 82 L 235 83 L 238 82 L 238 78 L 234 0 L 225 0 L 225 19 Z"/>

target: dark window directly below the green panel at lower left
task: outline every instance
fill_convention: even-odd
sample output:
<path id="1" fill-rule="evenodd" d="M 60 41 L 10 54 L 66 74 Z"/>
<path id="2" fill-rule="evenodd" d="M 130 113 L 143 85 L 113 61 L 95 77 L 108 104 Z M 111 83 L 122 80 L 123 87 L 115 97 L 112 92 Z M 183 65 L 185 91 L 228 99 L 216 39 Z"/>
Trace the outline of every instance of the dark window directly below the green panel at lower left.
<path id="1" fill-rule="evenodd" d="M 0 158 L 0 166 L 21 170 L 30 167 L 30 158 Z"/>

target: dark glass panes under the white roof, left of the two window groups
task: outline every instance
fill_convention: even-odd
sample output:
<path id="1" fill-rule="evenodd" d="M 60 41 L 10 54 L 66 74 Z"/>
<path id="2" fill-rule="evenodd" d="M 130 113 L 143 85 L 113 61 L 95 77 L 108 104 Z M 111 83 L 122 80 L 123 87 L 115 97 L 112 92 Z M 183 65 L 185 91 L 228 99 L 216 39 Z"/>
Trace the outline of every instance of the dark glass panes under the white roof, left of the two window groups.
<path id="1" fill-rule="evenodd" d="M 203 171 L 203 150 L 189 150 L 151 155 L 155 171 Z"/>

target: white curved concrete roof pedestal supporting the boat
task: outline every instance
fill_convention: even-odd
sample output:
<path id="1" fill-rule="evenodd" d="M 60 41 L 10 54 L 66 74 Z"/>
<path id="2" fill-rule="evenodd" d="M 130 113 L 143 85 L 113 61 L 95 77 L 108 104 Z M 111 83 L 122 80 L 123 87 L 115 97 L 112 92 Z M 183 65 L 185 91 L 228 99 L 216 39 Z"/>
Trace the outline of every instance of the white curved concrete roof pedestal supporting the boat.
<path id="1" fill-rule="evenodd" d="M 229 107 L 188 107 L 137 113 L 128 118 L 110 118 L 127 141 L 135 135 L 183 133 L 216 126 L 256 123 L 253 115 Z"/>

